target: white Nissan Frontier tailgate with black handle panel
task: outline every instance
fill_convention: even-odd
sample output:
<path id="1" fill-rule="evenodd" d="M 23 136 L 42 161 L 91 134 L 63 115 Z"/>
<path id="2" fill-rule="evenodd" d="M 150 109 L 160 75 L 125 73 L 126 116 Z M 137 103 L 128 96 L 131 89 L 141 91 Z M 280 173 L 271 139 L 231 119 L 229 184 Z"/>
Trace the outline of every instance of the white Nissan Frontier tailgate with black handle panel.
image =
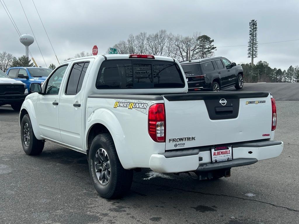
<path id="1" fill-rule="evenodd" d="M 271 137 L 269 92 L 163 95 L 165 150 L 222 145 Z"/>

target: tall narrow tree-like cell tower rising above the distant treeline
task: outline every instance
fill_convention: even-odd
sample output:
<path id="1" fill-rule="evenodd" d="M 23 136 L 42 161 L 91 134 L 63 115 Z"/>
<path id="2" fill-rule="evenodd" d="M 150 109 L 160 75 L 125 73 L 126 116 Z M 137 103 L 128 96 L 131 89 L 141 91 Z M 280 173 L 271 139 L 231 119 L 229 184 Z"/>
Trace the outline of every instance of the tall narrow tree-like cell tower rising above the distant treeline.
<path id="1" fill-rule="evenodd" d="M 257 57 L 257 21 L 252 19 L 249 23 L 249 41 L 248 41 L 248 58 L 251 58 L 251 66 L 253 67 L 253 59 Z"/>

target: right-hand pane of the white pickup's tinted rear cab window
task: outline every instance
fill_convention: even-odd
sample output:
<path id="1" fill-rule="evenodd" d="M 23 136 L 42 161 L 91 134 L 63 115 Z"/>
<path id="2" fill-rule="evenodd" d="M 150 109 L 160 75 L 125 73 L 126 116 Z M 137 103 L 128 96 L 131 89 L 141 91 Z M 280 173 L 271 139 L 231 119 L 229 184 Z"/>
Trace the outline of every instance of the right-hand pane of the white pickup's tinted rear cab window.
<path id="1" fill-rule="evenodd" d="M 152 63 L 154 75 L 154 88 L 180 88 L 184 87 L 181 71 L 173 62 Z"/>

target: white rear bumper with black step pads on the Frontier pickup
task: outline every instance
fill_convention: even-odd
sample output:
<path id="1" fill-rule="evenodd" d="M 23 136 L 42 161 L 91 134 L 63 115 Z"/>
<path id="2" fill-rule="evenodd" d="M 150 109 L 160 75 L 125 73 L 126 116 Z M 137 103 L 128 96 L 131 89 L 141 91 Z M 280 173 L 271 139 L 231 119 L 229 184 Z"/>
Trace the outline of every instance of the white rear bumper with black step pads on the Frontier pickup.
<path id="1" fill-rule="evenodd" d="M 180 173 L 187 171 L 212 171 L 223 168 L 250 165 L 264 159 L 278 157 L 283 151 L 283 142 L 263 141 L 232 144 L 233 160 L 211 162 L 210 150 L 188 149 L 153 154 L 149 168 L 159 173 Z"/>

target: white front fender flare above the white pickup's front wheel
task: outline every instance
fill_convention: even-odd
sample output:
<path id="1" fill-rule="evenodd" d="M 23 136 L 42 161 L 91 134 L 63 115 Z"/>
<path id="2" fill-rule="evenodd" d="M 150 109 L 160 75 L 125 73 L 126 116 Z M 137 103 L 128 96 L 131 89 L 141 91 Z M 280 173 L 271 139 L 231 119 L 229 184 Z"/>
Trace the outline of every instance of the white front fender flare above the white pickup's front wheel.
<path id="1" fill-rule="evenodd" d="M 35 113 L 34 106 L 33 106 L 33 103 L 31 100 L 25 100 L 22 104 L 20 114 L 19 114 L 19 125 L 20 126 L 21 126 L 21 122 L 22 122 L 21 114 L 22 114 L 23 110 L 26 110 L 27 113 L 29 114 L 33 133 L 34 133 L 35 137 L 39 140 L 42 140 L 43 139 L 41 137 L 42 133 L 39 131 L 39 127 L 38 127 L 37 120 L 36 120 L 36 113 Z"/>

